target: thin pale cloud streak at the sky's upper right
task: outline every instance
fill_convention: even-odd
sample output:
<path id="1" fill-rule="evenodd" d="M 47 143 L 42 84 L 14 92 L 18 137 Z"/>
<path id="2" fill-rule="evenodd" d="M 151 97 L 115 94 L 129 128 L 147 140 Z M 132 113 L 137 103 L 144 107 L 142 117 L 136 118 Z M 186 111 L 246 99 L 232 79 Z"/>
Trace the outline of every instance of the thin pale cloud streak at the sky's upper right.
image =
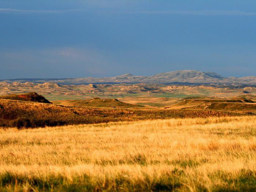
<path id="1" fill-rule="evenodd" d="M 170 15 L 238 15 L 238 16 L 255 16 L 256 12 L 244 11 L 217 11 L 217 10 L 201 10 L 201 11 L 187 11 L 187 10 L 166 10 L 166 11 L 134 11 L 127 12 L 128 14 L 170 14 Z"/>

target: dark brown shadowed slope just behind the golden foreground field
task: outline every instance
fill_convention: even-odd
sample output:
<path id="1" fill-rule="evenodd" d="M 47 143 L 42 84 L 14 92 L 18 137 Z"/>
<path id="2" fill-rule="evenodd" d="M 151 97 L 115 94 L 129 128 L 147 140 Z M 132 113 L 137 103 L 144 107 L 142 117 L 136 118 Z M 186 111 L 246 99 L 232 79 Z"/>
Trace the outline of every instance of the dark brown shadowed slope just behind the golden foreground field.
<path id="1" fill-rule="evenodd" d="M 89 124 L 142 119 L 237 116 L 214 110 L 149 110 L 71 107 L 0 99 L 0 126 L 44 127 L 62 124 Z"/>

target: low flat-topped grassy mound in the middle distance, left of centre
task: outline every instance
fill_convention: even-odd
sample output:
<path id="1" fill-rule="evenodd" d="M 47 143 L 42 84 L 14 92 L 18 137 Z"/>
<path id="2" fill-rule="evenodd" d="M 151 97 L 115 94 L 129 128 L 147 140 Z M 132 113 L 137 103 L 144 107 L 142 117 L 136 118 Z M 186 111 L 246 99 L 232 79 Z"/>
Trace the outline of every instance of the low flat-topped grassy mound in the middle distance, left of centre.
<path id="1" fill-rule="evenodd" d="M 71 106 L 87 106 L 87 107 L 112 107 L 112 108 L 139 108 L 143 105 L 134 105 L 124 103 L 118 99 L 100 99 L 98 97 L 87 100 L 60 100 L 53 101 L 54 104 L 71 105 Z"/>

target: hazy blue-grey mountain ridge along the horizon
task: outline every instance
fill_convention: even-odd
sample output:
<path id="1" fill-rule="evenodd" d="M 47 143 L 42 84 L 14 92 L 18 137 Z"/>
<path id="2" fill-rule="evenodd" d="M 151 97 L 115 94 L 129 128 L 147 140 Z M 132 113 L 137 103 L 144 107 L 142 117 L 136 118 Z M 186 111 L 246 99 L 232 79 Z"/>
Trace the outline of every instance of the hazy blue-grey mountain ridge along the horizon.
<path id="1" fill-rule="evenodd" d="M 133 76 L 132 74 L 123 74 L 116 77 L 84 77 L 84 78 L 63 78 L 63 79 L 15 79 L 1 80 L 4 82 L 54 82 L 60 84 L 88 84 L 88 83 L 107 83 L 107 82 L 145 82 L 145 83 L 239 83 L 256 85 L 256 76 L 249 77 L 222 77 L 214 72 L 202 72 L 197 70 L 177 70 L 166 73 L 159 73 L 153 76 Z"/>

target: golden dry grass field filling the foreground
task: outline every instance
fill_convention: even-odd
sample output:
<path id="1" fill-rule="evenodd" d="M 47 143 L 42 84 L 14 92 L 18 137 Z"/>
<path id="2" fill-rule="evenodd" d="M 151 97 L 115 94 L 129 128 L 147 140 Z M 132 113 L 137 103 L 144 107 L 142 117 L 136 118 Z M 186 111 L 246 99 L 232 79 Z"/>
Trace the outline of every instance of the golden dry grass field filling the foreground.
<path id="1" fill-rule="evenodd" d="M 256 117 L 0 129 L 0 191 L 255 191 Z"/>

